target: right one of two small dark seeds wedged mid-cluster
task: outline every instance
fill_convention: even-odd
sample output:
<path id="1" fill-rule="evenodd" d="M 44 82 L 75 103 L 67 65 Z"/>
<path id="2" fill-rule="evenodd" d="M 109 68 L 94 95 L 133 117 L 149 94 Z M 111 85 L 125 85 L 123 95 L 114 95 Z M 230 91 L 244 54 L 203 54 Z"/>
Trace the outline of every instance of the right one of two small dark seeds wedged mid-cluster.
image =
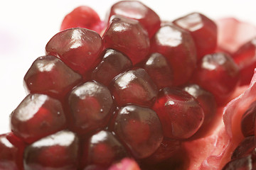
<path id="1" fill-rule="evenodd" d="M 166 57 L 160 53 L 153 53 L 149 56 L 144 64 L 144 69 L 154 81 L 158 89 L 166 86 L 172 86 L 174 81 L 174 73 L 166 60 Z"/>

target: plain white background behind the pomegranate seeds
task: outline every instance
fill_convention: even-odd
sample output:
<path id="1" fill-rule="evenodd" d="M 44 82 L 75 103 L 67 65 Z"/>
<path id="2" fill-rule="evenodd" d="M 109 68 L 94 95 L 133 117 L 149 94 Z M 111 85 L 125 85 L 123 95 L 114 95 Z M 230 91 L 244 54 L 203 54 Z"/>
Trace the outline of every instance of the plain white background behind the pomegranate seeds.
<path id="1" fill-rule="evenodd" d="M 44 55 L 48 40 L 58 33 L 65 14 L 91 6 L 103 19 L 116 0 L 2 1 L 0 5 L 0 134 L 9 132 L 9 115 L 26 96 L 23 76 L 33 60 Z M 255 0 L 143 0 L 163 20 L 193 11 L 217 19 L 233 16 L 256 26 Z"/>

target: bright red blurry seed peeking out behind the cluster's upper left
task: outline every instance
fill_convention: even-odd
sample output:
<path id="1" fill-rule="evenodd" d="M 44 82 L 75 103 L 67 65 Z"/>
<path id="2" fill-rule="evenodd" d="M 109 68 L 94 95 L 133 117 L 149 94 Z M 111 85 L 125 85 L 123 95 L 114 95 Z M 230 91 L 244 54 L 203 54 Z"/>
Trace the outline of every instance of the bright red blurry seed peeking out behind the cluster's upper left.
<path id="1" fill-rule="evenodd" d="M 104 28 L 104 23 L 100 21 L 100 16 L 89 6 L 78 6 L 65 16 L 60 30 L 76 27 L 95 30 L 100 34 Z"/>

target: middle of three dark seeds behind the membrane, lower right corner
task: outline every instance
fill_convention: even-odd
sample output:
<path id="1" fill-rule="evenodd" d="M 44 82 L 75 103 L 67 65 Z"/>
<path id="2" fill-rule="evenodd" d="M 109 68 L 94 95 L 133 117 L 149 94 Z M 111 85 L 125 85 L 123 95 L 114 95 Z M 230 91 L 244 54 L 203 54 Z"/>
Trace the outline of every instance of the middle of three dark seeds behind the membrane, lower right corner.
<path id="1" fill-rule="evenodd" d="M 255 136 L 245 137 L 242 142 L 235 148 L 231 159 L 238 159 L 241 157 L 246 157 L 249 154 L 252 154 L 252 151 L 256 148 Z"/>

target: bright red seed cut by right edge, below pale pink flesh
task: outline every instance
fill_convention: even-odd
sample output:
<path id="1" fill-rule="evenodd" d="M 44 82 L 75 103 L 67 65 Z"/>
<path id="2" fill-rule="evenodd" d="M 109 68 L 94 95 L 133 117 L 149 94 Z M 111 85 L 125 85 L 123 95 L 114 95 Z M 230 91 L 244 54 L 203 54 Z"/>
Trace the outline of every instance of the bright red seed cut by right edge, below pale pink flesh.
<path id="1" fill-rule="evenodd" d="M 256 38 L 245 43 L 233 54 L 233 59 L 238 64 L 241 74 L 240 86 L 250 84 L 256 67 Z"/>

